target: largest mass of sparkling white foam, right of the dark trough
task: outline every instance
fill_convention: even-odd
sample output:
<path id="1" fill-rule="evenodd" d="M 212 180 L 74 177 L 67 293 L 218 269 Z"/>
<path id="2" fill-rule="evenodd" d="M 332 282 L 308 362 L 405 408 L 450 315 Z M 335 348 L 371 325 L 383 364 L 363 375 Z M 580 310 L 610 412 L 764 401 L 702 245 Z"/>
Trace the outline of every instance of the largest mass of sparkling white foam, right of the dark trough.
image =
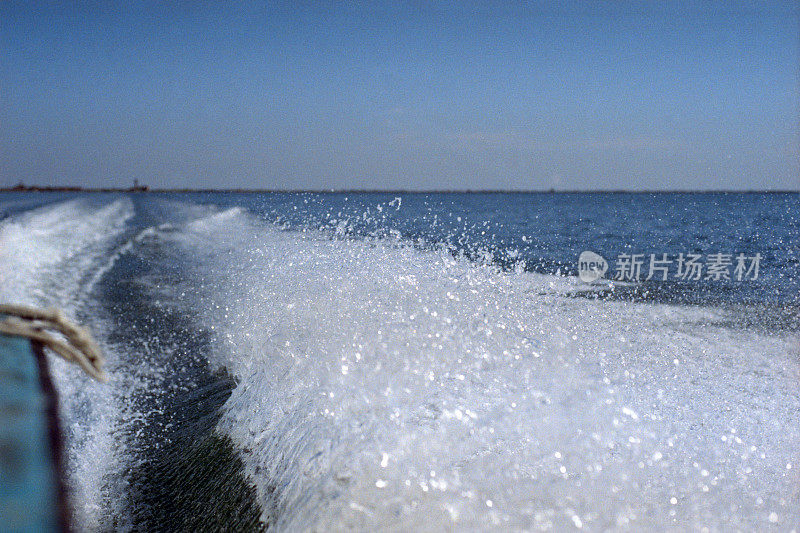
<path id="1" fill-rule="evenodd" d="M 279 530 L 800 521 L 796 336 L 242 212 L 173 237 Z"/>

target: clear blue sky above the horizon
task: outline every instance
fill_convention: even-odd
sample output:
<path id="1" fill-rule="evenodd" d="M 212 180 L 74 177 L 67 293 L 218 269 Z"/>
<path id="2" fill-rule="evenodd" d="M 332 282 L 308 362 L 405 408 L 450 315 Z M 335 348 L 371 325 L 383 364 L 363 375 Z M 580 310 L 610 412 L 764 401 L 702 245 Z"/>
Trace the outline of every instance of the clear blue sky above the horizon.
<path id="1" fill-rule="evenodd" d="M 0 3 L 0 186 L 800 189 L 797 2 Z"/>

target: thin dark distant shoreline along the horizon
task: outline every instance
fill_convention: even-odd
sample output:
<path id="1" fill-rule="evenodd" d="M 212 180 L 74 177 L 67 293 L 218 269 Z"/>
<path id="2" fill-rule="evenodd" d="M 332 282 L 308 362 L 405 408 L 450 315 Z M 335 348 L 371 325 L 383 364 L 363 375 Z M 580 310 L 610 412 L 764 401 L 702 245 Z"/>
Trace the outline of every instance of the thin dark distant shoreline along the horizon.
<path id="1" fill-rule="evenodd" d="M 672 190 L 629 190 L 629 189 L 192 189 L 163 188 L 151 189 L 148 186 L 136 187 L 76 187 L 76 186 L 42 186 L 15 185 L 0 187 L 0 192 L 85 192 L 85 193 L 235 193 L 235 194 L 800 194 L 800 189 L 672 189 Z"/>

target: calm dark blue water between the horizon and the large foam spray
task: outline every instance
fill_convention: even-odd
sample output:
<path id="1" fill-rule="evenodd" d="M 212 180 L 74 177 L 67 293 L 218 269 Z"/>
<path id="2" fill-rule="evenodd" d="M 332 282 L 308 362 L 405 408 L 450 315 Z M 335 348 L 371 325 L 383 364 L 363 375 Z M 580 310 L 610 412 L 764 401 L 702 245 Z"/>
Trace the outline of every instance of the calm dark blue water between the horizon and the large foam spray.
<path id="1" fill-rule="evenodd" d="M 504 269 L 576 276 L 584 250 L 611 263 L 643 254 L 643 283 L 616 297 L 660 301 L 797 304 L 800 298 L 800 194 L 751 193 L 437 193 L 196 194 L 198 202 L 243 206 L 289 230 L 337 237 L 393 233 L 445 246 Z M 398 201 L 399 200 L 399 201 Z M 731 254 L 731 279 L 675 277 L 678 254 Z M 667 283 L 644 282 L 650 254 L 673 260 Z M 735 257 L 760 254 L 757 279 L 735 276 Z M 749 262 L 747 263 L 749 266 Z"/>

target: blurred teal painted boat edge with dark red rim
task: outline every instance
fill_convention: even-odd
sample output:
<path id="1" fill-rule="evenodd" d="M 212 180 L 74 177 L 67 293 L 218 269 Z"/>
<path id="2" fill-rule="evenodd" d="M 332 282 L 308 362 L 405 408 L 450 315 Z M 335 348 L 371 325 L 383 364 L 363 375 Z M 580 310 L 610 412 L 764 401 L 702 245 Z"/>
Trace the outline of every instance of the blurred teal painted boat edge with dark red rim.
<path id="1" fill-rule="evenodd" d="M 0 335 L 0 531 L 67 530 L 55 390 L 41 347 Z"/>

